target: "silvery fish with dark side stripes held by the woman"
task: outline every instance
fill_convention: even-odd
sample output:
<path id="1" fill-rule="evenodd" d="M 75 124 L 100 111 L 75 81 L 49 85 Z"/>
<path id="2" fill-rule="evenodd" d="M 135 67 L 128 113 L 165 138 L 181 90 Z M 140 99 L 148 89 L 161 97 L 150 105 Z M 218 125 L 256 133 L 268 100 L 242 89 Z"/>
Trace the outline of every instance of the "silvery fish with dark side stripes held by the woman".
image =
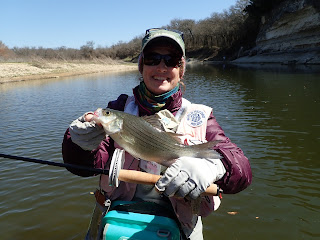
<path id="1" fill-rule="evenodd" d="M 212 149 L 219 141 L 183 145 L 178 139 L 181 135 L 160 131 L 143 117 L 99 108 L 95 112 L 94 120 L 103 126 L 107 135 L 137 159 L 170 166 L 175 159 L 182 156 L 221 158 L 220 154 Z"/>

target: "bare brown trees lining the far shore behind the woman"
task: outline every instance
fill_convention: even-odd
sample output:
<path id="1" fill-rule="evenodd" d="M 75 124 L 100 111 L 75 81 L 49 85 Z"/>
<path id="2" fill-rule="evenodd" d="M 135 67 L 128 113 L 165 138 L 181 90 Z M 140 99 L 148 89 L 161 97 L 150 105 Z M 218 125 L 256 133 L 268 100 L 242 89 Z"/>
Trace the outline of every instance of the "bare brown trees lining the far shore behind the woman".
<path id="1" fill-rule="evenodd" d="M 167 29 L 184 33 L 186 51 L 189 57 L 222 58 L 237 57 L 239 49 L 250 49 L 255 44 L 261 16 L 284 0 L 238 0 L 234 6 L 223 13 L 213 13 L 200 21 L 192 19 L 173 19 Z M 59 47 L 14 47 L 9 49 L 0 41 L 1 58 L 43 58 L 59 60 L 91 59 L 136 59 L 141 48 L 140 36 L 129 42 L 119 42 L 111 47 L 95 47 L 88 41 L 80 49 Z"/>

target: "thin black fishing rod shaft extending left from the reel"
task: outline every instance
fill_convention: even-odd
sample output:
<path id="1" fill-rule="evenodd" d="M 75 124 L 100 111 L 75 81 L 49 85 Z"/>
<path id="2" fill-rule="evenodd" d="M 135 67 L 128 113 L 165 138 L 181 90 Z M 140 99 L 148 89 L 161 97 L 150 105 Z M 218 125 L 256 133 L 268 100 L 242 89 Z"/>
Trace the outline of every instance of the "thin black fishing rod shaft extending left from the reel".
<path id="1" fill-rule="evenodd" d="M 105 169 L 101 169 L 101 168 L 90 168 L 90 167 L 79 166 L 79 165 L 70 164 L 70 163 L 51 162 L 51 161 L 45 161 L 45 160 L 40 160 L 40 159 L 35 159 L 35 158 L 26 158 L 26 157 L 13 156 L 13 155 L 2 154 L 2 153 L 0 153 L 0 157 L 13 159 L 13 160 L 20 160 L 20 161 L 24 161 L 24 162 L 39 163 L 39 164 L 50 165 L 50 166 L 55 166 L 55 167 L 71 168 L 71 169 L 77 169 L 77 170 L 86 170 L 88 172 L 109 175 L 109 170 L 105 170 Z"/>

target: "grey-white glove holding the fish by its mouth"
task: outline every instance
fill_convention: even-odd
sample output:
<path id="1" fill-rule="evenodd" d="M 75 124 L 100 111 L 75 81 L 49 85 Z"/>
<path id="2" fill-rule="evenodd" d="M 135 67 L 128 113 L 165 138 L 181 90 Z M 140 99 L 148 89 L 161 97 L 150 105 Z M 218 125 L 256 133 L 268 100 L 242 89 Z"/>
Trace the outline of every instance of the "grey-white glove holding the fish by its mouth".
<path id="1" fill-rule="evenodd" d="M 83 150 L 96 149 L 101 141 L 106 137 L 102 127 L 98 126 L 95 121 L 86 122 L 87 112 L 78 119 L 74 120 L 69 126 L 71 140 Z"/>

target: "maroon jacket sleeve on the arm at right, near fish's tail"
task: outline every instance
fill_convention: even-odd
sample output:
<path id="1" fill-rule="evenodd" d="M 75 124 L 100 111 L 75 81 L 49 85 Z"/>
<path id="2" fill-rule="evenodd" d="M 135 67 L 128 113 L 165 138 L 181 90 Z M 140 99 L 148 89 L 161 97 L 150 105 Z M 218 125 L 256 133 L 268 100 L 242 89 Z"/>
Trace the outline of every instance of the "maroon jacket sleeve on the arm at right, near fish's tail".
<path id="1" fill-rule="evenodd" d="M 249 160 L 242 150 L 225 136 L 212 113 L 208 119 L 206 138 L 207 141 L 220 140 L 214 149 L 222 155 L 221 161 L 226 168 L 226 174 L 216 182 L 223 192 L 237 193 L 248 187 L 252 181 Z"/>

